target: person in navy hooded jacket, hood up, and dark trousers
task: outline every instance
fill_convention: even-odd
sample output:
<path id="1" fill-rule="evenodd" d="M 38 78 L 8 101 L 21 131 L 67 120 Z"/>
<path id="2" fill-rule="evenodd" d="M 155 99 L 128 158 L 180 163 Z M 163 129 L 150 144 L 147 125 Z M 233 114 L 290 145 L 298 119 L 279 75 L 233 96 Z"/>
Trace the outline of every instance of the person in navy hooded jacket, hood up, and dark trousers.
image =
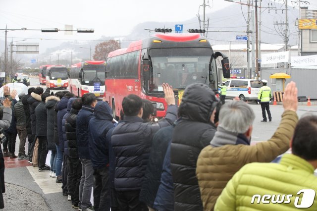
<path id="1" fill-rule="evenodd" d="M 110 210 L 109 195 L 109 150 L 106 134 L 114 127 L 112 110 L 106 102 L 95 106 L 95 117 L 89 121 L 89 154 L 94 169 L 94 209 Z"/>

